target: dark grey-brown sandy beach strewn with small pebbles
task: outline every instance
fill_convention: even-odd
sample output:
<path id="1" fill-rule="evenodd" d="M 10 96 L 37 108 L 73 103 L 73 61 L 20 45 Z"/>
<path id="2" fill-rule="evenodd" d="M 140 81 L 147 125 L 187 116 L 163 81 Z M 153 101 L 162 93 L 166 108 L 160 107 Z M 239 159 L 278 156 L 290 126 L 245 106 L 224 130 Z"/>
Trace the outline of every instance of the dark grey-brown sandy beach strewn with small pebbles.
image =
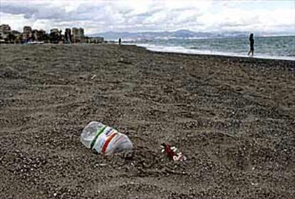
<path id="1" fill-rule="evenodd" d="M 90 121 L 128 135 L 133 156 L 84 147 Z M 0 198 L 295 195 L 295 61 L 1 45 L 0 127 Z"/>

